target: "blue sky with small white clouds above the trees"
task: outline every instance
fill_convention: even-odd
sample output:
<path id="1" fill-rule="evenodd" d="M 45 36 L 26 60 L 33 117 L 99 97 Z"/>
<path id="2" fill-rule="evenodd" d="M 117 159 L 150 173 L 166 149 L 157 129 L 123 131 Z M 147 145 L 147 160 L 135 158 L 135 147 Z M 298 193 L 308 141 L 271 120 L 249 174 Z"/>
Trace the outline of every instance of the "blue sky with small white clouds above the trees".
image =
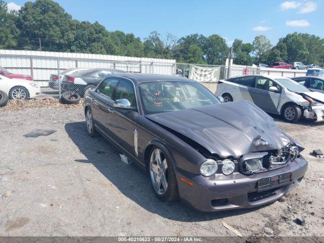
<path id="1" fill-rule="evenodd" d="M 19 8 L 24 0 L 7 1 Z M 300 1 L 155 1 L 57 0 L 73 19 L 98 21 L 107 30 L 134 33 L 142 39 L 157 30 L 182 37 L 192 33 L 219 34 L 228 43 L 235 38 L 252 42 L 259 34 L 272 44 L 292 32 L 324 38 L 324 0 Z"/>

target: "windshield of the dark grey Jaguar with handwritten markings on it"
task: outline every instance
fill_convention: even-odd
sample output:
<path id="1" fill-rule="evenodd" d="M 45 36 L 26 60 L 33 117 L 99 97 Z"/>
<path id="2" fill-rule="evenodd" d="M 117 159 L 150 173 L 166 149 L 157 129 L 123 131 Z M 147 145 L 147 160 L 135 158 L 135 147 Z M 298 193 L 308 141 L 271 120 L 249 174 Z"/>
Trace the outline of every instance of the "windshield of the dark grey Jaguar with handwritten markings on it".
<path id="1" fill-rule="evenodd" d="M 146 114 L 183 110 L 220 101 L 204 86 L 191 82 L 149 82 L 139 86 Z"/>

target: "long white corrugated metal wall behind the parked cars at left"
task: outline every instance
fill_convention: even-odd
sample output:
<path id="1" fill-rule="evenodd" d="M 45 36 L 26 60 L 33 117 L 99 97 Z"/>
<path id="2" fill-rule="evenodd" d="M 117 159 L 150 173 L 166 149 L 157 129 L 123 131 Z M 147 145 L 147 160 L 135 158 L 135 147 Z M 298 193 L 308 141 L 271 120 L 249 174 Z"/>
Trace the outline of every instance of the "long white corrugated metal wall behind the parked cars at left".
<path id="1" fill-rule="evenodd" d="M 0 50 L 0 66 L 13 73 L 32 75 L 47 86 L 52 73 L 74 67 L 115 68 L 130 72 L 174 75 L 176 60 L 86 53 Z"/>

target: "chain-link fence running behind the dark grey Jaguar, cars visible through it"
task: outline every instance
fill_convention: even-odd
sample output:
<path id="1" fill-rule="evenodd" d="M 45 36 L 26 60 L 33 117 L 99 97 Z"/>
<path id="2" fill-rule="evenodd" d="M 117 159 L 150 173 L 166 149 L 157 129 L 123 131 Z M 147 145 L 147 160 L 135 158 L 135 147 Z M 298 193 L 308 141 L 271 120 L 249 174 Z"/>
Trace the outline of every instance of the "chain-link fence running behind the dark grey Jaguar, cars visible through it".
<path id="1" fill-rule="evenodd" d="M 156 59 L 158 60 L 158 59 Z M 163 59 L 161 59 L 163 60 Z M 0 54 L 0 91 L 9 99 L 37 97 L 61 98 L 64 92 L 83 97 L 86 90 L 96 88 L 109 74 L 123 72 L 167 74 L 191 77 L 193 64 L 159 61 L 112 61 L 86 58 L 45 57 Z M 202 69 L 217 69 L 217 76 L 204 83 L 214 83 L 242 74 L 258 74 L 259 68 L 194 64 Z M 191 76 L 190 76 L 191 75 Z M 5 94 L 3 94 L 5 93 Z"/>

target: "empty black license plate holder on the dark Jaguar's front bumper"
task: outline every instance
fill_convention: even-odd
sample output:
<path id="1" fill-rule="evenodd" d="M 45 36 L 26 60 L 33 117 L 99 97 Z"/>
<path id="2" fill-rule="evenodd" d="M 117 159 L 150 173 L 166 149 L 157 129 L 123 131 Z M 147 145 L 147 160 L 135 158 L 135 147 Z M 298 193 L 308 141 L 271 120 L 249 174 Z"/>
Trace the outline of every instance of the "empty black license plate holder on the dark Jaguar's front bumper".
<path id="1" fill-rule="evenodd" d="M 285 173 L 278 176 L 266 177 L 258 180 L 257 191 L 269 190 L 291 182 L 292 173 Z"/>

